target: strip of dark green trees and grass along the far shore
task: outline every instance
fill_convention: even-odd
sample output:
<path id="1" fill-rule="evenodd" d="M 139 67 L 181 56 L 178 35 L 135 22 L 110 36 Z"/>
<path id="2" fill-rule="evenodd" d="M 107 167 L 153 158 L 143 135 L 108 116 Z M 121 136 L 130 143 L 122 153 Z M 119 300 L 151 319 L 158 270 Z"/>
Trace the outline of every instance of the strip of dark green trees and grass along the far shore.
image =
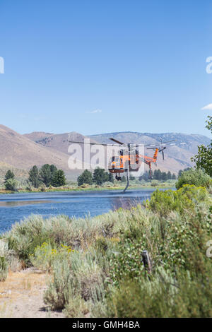
<path id="1" fill-rule="evenodd" d="M 51 166 L 53 167 L 54 165 Z M 33 174 L 30 172 L 29 181 L 24 185 L 18 184 L 14 176 L 12 175 L 13 177 L 11 177 L 11 171 L 9 170 L 8 175 L 6 175 L 7 179 L 5 177 L 4 180 L 4 182 L 7 183 L 7 186 L 0 187 L 0 194 L 12 194 L 13 192 L 33 193 L 49 191 L 124 190 L 126 186 L 126 177 L 123 176 L 122 181 L 117 181 L 112 174 L 109 174 L 100 168 L 97 168 L 93 174 L 90 171 L 85 170 L 81 176 L 78 177 L 78 182 L 65 182 L 66 184 L 62 184 L 61 186 L 55 186 L 54 177 L 50 183 L 50 178 L 48 177 L 48 186 L 44 182 L 39 182 L 39 171 L 35 166 L 32 168 L 32 172 L 35 177 L 33 178 Z M 179 171 L 179 174 L 181 173 L 182 170 Z M 57 172 L 57 176 L 58 174 L 59 173 Z M 8 176 L 11 178 L 8 178 Z M 61 176 L 64 177 L 64 174 L 61 174 Z M 148 172 L 145 172 L 141 177 L 137 178 L 131 176 L 129 187 L 131 189 L 148 189 L 152 187 L 155 187 L 155 189 L 173 188 L 175 187 L 176 178 L 175 174 L 171 174 L 170 172 L 166 173 L 161 172 L 160 170 L 155 170 L 152 180 L 149 179 Z"/>

